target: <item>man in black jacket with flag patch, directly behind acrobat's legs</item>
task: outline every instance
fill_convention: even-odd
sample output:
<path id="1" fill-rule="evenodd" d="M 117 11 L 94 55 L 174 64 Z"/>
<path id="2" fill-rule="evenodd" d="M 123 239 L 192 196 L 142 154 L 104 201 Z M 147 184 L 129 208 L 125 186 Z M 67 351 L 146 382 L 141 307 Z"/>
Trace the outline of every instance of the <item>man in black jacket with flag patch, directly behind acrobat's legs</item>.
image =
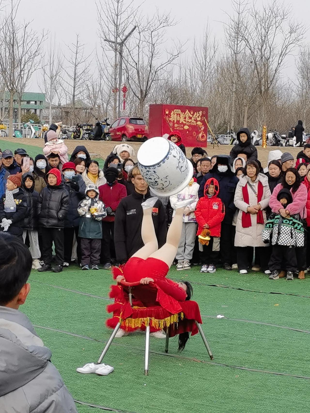
<path id="1" fill-rule="evenodd" d="M 125 263 L 138 249 L 143 247 L 141 238 L 142 202 L 149 198 L 149 187 L 137 166 L 132 170 L 132 183 L 135 190 L 132 195 L 121 200 L 116 209 L 114 221 L 114 244 L 116 260 Z M 152 217 L 159 248 L 166 242 L 166 213 L 161 201 L 153 207 Z"/>

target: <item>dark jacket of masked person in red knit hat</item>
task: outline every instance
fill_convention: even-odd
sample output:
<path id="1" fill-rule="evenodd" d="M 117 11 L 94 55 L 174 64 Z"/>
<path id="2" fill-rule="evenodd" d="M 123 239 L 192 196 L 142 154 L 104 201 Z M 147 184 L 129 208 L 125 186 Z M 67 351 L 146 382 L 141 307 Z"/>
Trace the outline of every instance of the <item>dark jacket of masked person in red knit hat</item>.
<path id="1" fill-rule="evenodd" d="M 86 185 L 82 175 L 76 175 L 73 180 L 66 182 L 64 180 L 64 187 L 69 193 L 69 209 L 66 214 L 64 222 L 65 228 L 78 227 L 80 224 L 80 215 L 78 214 L 78 204 L 82 199 L 85 199 Z"/>

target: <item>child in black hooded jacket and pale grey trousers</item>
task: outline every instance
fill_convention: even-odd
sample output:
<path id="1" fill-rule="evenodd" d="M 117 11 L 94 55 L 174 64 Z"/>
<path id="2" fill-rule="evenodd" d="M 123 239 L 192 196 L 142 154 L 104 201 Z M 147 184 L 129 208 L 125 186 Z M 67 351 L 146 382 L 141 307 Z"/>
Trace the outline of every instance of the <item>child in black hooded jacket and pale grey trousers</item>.
<path id="1" fill-rule="evenodd" d="M 32 268 L 38 270 L 41 268 L 39 258 L 41 256 L 38 240 L 38 215 L 37 205 L 39 194 L 34 190 L 35 178 L 32 173 L 26 172 L 21 178 L 21 188 L 27 199 L 28 214 L 23 224 L 23 240 L 26 241 L 28 234 L 29 251 L 32 257 Z"/>

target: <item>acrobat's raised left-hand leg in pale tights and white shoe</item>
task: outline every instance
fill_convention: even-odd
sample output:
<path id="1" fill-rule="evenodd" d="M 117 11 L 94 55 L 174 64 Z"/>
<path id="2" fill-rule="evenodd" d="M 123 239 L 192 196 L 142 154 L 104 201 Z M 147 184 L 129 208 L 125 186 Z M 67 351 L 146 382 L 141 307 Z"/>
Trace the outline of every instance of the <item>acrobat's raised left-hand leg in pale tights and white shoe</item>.
<path id="1" fill-rule="evenodd" d="M 153 218 L 152 218 L 152 208 L 154 207 L 157 198 L 149 198 L 147 201 L 143 202 L 143 218 L 141 225 L 141 237 L 144 246 L 140 248 L 133 257 L 147 259 L 153 252 L 158 250 L 158 242 L 155 233 Z"/>

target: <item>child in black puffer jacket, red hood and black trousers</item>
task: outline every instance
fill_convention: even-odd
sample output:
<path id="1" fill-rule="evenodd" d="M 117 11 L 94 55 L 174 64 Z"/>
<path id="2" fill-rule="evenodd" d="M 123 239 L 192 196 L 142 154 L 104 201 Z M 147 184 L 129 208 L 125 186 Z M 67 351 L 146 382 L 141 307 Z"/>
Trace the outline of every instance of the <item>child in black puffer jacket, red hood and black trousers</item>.
<path id="1" fill-rule="evenodd" d="M 38 221 L 42 235 L 44 265 L 38 271 L 60 273 L 64 265 L 64 222 L 69 209 L 69 193 L 62 184 L 59 169 L 47 173 L 47 187 L 38 198 Z M 55 244 L 56 266 L 52 268 L 52 246 Z"/>

